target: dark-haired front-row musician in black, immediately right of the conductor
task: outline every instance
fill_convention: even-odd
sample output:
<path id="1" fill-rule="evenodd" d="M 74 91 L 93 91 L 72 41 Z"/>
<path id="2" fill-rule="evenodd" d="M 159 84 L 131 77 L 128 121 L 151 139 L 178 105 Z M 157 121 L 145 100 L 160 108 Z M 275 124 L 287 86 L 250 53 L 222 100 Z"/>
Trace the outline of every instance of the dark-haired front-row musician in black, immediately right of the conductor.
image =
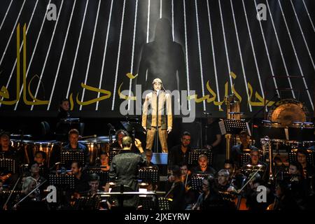
<path id="1" fill-rule="evenodd" d="M 172 187 L 165 197 L 172 198 L 171 210 L 184 210 L 186 209 L 186 200 L 185 186 L 181 181 L 181 168 L 179 166 L 172 167 L 170 174 L 169 181 L 172 182 Z"/>

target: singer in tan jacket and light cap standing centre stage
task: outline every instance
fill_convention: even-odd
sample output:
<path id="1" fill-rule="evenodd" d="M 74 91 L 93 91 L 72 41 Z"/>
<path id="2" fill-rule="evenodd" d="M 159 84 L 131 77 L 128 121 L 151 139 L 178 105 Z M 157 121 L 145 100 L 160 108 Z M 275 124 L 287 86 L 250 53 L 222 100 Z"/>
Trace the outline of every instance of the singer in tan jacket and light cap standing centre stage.
<path id="1" fill-rule="evenodd" d="M 152 84 L 153 92 L 146 94 L 142 113 L 142 127 L 147 131 L 146 148 L 152 149 L 158 126 L 158 137 L 162 146 L 162 152 L 167 153 L 167 134 L 172 132 L 172 97 L 161 90 L 162 80 L 160 78 L 155 78 Z"/>

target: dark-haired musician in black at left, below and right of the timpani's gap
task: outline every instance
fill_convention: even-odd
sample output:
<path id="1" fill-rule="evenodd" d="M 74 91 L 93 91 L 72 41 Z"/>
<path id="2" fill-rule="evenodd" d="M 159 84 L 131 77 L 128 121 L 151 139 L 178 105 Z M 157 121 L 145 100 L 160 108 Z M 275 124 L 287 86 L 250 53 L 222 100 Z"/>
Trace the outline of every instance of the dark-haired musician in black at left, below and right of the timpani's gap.
<path id="1" fill-rule="evenodd" d="M 74 193 L 76 195 L 86 194 L 90 189 L 88 174 L 83 173 L 82 164 L 78 161 L 73 161 L 71 164 L 71 174 L 74 175 Z"/>

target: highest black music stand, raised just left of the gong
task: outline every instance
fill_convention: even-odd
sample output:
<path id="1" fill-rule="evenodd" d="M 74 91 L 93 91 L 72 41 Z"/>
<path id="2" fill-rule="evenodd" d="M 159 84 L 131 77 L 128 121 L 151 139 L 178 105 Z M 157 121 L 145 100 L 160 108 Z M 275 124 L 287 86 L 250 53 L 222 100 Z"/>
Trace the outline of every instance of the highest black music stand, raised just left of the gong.
<path id="1" fill-rule="evenodd" d="M 223 119 L 219 122 L 221 134 L 239 134 L 246 131 L 251 136 L 251 130 L 245 120 Z"/>

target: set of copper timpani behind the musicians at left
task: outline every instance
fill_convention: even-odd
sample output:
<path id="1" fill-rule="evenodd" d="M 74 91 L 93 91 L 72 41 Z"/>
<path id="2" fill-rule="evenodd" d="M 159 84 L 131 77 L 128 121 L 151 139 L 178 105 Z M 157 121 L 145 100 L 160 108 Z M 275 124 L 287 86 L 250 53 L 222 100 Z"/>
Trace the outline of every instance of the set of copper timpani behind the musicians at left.
<path id="1" fill-rule="evenodd" d="M 52 151 L 55 150 L 55 147 L 62 148 L 64 143 L 61 141 L 32 141 L 31 135 L 25 134 L 21 136 L 20 134 L 11 134 L 10 135 L 10 145 L 15 148 L 16 151 L 22 151 L 25 160 L 24 163 L 29 164 L 34 160 L 34 156 L 36 152 L 43 151 L 45 153 L 45 162 L 50 165 L 50 158 L 52 155 Z M 83 137 L 84 139 L 85 137 Z M 115 138 L 111 138 L 114 139 Z M 97 158 L 101 155 L 102 152 L 109 153 L 109 149 L 111 146 L 110 137 L 102 136 L 92 138 L 88 138 L 85 140 L 78 141 L 80 144 L 87 146 L 90 153 L 90 165 L 94 165 L 97 161 Z"/>

